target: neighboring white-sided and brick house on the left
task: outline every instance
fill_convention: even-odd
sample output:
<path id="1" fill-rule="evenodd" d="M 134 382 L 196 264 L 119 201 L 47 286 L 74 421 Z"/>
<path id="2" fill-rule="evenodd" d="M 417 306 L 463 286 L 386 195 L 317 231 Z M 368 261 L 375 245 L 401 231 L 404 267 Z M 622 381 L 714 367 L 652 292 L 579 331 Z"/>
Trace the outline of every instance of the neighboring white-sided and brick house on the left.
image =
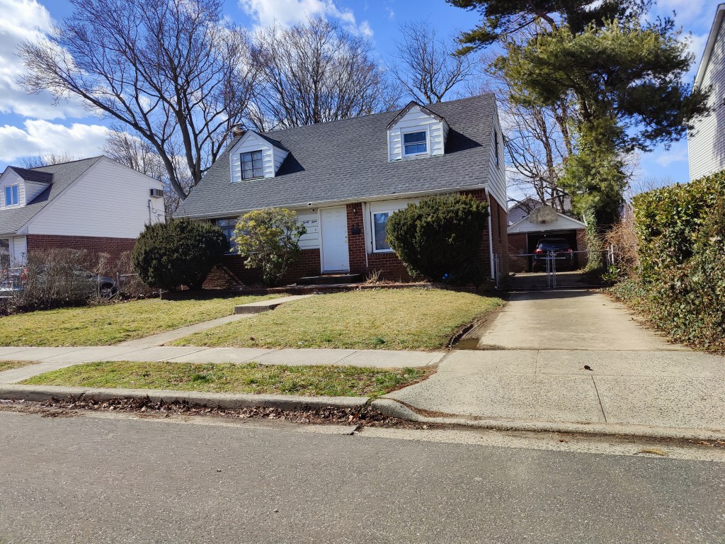
<path id="1" fill-rule="evenodd" d="M 146 223 L 165 220 L 161 182 L 108 157 L 0 176 L 0 268 L 52 248 L 107 253 L 133 249 Z"/>

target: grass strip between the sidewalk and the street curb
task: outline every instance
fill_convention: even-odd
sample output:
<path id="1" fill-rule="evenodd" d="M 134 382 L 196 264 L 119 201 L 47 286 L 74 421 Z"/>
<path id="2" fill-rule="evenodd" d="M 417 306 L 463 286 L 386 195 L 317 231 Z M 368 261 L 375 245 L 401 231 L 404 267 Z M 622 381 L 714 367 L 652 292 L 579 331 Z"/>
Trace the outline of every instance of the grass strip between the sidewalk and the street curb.
<path id="1" fill-rule="evenodd" d="M 276 393 L 368 397 L 383 395 L 430 374 L 427 368 L 265 366 L 258 363 L 104 362 L 69 366 L 23 384 L 123 387 L 215 393 Z"/>

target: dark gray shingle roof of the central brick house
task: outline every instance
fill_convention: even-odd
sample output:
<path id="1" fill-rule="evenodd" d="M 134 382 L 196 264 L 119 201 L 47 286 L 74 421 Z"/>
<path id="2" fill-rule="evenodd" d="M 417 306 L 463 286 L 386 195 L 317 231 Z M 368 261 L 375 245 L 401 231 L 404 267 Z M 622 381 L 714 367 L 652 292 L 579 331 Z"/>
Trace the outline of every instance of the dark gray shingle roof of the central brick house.
<path id="1" fill-rule="evenodd" d="M 388 161 L 387 125 L 399 112 L 262 134 L 289 151 L 274 178 L 231 183 L 234 139 L 177 215 L 224 217 L 270 206 L 351 201 L 481 186 L 489 181 L 494 96 L 426 105 L 450 126 L 445 154 Z"/>

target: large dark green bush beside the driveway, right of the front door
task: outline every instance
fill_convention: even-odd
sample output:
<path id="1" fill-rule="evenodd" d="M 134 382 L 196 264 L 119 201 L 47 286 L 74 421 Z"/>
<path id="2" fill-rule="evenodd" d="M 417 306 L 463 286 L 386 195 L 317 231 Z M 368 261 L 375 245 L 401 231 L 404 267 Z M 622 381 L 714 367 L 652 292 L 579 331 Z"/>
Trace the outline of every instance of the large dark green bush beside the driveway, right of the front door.
<path id="1" fill-rule="evenodd" d="M 388 244 L 411 276 L 456 284 L 481 281 L 488 205 L 473 197 L 430 197 L 390 216 Z"/>

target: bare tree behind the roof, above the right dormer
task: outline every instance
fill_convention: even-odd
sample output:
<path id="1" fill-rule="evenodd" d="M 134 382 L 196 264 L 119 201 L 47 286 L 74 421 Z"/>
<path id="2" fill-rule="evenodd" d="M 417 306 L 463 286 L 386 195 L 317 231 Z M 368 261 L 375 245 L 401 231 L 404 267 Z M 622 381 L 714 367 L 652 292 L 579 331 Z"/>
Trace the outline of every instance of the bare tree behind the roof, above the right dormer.
<path id="1" fill-rule="evenodd" d="M 441 102 L 473 75 L 471 58 L 455 54 L 460 46 L 455 37 L 438 39 L 429 22 L 407 22 L 400 25 L 400 33 L 390 72 L 417 102 Z"/>

